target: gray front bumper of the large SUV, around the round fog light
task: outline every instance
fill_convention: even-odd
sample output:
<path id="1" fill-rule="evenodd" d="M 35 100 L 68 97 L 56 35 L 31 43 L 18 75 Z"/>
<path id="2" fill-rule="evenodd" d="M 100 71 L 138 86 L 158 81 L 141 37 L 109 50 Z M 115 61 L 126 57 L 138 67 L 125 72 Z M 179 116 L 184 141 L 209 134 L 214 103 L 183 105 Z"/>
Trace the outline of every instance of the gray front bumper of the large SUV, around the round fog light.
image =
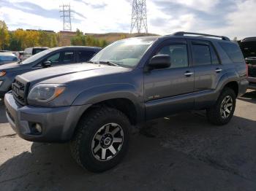
<path id="1" fill-rule="evenodd" d="M 4 104 L 12 129 L 27 141 L 39 142 L 64 142 L 72 139 L 81 114 L 90 106 L 20 106 L 12 93 L 5 94 Z M 34 133 L 35 124 L 41 126 L 42 133 Z"/>

